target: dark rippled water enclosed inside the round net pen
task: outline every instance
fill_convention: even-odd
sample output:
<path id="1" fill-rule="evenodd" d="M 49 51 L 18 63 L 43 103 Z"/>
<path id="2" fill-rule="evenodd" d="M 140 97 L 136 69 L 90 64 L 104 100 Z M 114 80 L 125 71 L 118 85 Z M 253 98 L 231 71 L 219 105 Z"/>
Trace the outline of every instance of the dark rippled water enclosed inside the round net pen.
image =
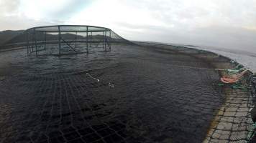
<path id="1" fill-rule="evenodd" d="M 202 142 L 223 101 L 211 66 L 172 51 L 24 53 L 0 54 L 0 142 Z"/>

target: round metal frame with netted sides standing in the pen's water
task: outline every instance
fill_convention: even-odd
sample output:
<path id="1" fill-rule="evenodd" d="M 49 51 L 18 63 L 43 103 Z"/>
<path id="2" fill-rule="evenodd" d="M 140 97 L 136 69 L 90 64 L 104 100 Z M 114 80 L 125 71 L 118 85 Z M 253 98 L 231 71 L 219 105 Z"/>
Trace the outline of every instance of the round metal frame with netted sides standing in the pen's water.
<path id="1" fill-rule="evenodd" d="M 84 26 L 84 25 L 55 25 L 55 26 L 37 26 L 27 29 L 27 55 L 39 51 L 46 50 L 47 44 L 58 44 L 58 55 L 62 55 L 63 44 L 68 46 L 73 54 L 81 53 L 76 50 L 78 43 L 84 43 L 86 46 L 86 53 L 88 54 L 89 48 L 93 47 L 92 44 L 102 44 L 104 51 L 111 50 L 111 29 L 100 26 Z M 74 39 L 65 39 L 63 33 L 74 36 Z M 75 34 L 73 34 L 75 33 Z M 83 39 L 78 39 L 78 34 Z M 115 34 L 115 33 L 114 33 Z M 47 39 L 49 35 L 49 38 Z M 117 34 L 116 34 L 117 35 Z M 50 38 L 52 37 L 52 38 Z M 58 39 L 55 39 L 58 37 Z M 43 48 L 42 48 L 43 47 Z"/>

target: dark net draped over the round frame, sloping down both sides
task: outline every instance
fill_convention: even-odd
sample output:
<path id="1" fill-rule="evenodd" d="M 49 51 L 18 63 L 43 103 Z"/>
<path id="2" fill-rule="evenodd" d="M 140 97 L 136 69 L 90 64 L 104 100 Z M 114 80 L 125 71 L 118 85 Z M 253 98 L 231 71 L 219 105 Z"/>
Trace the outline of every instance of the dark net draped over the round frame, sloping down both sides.
<path id="1" fill-rule="evenodd" d="M 27 29 L 5 46 L 26 46 L 28 55 L 62 55 L 110 51 L 112 43 L 124 41 L 127 42 L 104 27 L 59 25 Z"/>

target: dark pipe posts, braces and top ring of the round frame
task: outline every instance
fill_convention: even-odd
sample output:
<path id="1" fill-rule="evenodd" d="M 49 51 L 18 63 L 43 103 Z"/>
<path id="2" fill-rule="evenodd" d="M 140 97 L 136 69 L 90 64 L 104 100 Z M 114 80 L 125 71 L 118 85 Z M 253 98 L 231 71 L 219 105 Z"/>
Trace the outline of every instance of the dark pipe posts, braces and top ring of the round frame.
<path id="1" fill-rule="evenodd" d="M 44 34 L 44 42 L 41 42 L 39 44 L 44 44 L 44 49 L 46 49 L 46 45 L 47 45 L 47 39 L 46 39 L 46 35 L 47 35 L 47 32 L 50 32 L 50 33 L 58 33 L 58 54 L 61 55 L 61 43 L 65 43 L 67 44 L 68 46 L 70 46 L 70 44 L 68 44 L 67 41 L 65 41 L 63 39 L 63 37 L 61 36 L 62 32 L 67 32 L 67 33 L 72 33 L 72 32 L 76 32 L 76 38 L 75 38 L 75 48 L 77 46 L 77 42 L 81 42 L 81 41 L 77 41 L 77 34 L 78 33 L 84 33 L 86 32 L 86 53 L 88 53 L 88 41 L 90 41 L 90 46 L 93 42 L 96 42 L 96 41 L 93 41 L 93 33 L 97 33 L 97 32 L 103 32 L 103 48 L 104 48 L 104 51 L 106 51 L 106 45 L 109 46 L 109 51 L 111 50 L 111 44 L 109 44 L 109 41 L 107 40 L 107 36 L 106 36 L 106 33 L 109 32 L 109 38 L 111 39 L 111 29 L 107 29 L 107 28 L 104 28 L 104 27 L 99 27 L 99 26 L 82 26 L 82 27 L 86 27 L 86 31 L 79 31 L 79 30 L 63 30 L 61 31 L 61 27 L 75 27 L 77 25 L 58 25 L 58 26 L 39 26 L 39 27 L 34 27 L 34 28 L 31 28 L 31 29 L 27 29 L 25 32 L 27 34 L 27 54 L 29 55 L 30 53 L 34 52 L 34 47 L 35 47 L 35 53 L 36 53 L 36 56 L 37 56 L 37 52 L 39 51 L 38 50 L 38 41 L 37 41 L 37 32 L 40 32 L 42 34 Z M 81 26 L 81 25 L 78 25 L 78 26 Z M 41 28 L 51 28 L 51 27 L 58 27 L 58 31 L 52 31 L 52 30 L 37 30 L 37 29 L 41 29 Z M 89 30 L 88 27 L 93 27 L 93 28 L 99 28 L 101 30 Z M 90 32 L 90 39 L 88 39 L 88 32 Z M 30 41 L 30 36 L 32 35 L 32 42 L 29 42 Z M 63 42 L 62 42 L 63 40 Z M 51 41 L 52 42 L 52 41 Z M 99 40 L 99 42 L 101 42 Z M 32 52 L 31 52 L 31 47 L 32 47 Z M 71 47 L 70 47 L 71 48 Z M 74 51 L 76 51 L 73 47 L 71 48 L 73 49 Z M 78 53 L 78 52 L 76 52 Z"/>

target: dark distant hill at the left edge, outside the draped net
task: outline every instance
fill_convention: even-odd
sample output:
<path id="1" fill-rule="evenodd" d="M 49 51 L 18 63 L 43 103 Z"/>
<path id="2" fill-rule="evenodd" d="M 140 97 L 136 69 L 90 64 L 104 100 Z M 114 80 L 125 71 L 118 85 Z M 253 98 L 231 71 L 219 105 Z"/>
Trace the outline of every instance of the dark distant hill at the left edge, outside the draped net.
<path id="1" fill-rule="evenodd" d="M 13 39 L 15 36 L 22 34 L 24 30 L 5 30 L 5 31 L 0 31 L 0 45 L 6 43 L 10 39 Z"/>

